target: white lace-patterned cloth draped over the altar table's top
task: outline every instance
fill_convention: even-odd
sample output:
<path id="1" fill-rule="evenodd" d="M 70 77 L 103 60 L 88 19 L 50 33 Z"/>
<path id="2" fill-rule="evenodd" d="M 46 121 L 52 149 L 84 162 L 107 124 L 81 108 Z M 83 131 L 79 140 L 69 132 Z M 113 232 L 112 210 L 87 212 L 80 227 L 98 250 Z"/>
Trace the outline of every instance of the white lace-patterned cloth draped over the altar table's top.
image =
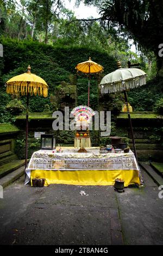
<path id="1" fill-rule="evenodd" d="M 87 153 L 78 153 L 78 149 L 67 147 L 62 153 L 53 153 L 52 150 L 34 152 L 26 169 L 28 181 L 30 170 L 139 170 L 131 150 L 120 154 L 101 154 L 99 148 L 86 150 Z"/>

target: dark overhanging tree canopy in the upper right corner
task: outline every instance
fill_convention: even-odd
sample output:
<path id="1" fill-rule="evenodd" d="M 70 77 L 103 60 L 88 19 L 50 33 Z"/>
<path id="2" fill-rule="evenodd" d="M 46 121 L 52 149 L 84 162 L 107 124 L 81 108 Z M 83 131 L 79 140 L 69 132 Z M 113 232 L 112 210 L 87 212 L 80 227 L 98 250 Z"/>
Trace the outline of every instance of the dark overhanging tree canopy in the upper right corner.
<path id="1" fill-rule="evenodd" d="M 158 74 L 163 76 L 163 60 L 158 55 L 163 38 L 162 0 L 84 0 L 84 3 L 98 7 L 103 25 L 120 26 L 146 52 L 153 51 L 157 58 Z"/>

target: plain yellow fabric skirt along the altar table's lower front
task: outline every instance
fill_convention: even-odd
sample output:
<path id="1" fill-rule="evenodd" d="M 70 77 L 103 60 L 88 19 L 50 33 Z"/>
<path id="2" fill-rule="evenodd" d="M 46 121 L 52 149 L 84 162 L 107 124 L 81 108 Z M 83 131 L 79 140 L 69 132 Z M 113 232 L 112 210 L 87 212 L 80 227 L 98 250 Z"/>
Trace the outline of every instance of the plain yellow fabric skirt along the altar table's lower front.
<path id="1" fill-rule="evenodd" d="M 45 186 L 50 184 L 69 185 L 114 185 L 116 178 L 124 180 L 124 186 L 140 185 L 138 170 L 31 170 L 30 180 L 46 179 Z"/>

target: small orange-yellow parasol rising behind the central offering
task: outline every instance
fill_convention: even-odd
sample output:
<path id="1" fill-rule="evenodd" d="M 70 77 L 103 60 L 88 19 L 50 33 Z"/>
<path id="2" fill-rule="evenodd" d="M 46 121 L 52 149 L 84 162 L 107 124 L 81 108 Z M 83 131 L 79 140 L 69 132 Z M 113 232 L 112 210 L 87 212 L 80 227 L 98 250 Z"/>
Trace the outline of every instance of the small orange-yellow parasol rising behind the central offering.
<path id="1" fill-rule="evenodd" d="M 87 60 L 86 62 L 82 62 L 77 64 L 76 66 L 77 72 L 82 72 L 86 75 L 88 75 L 89 77 L 89 87 L 88 87 L 88 100 L 87 100 L 87 106 L 89 107 L 90 105 L 90 77 L 91 74 L 99 74 L 101 72 L 103 72 L 103 66 L 97 64 L 96 62 L 93 62 L 91 60 L 91 57 L 89 58 L 89 60 Z"/>

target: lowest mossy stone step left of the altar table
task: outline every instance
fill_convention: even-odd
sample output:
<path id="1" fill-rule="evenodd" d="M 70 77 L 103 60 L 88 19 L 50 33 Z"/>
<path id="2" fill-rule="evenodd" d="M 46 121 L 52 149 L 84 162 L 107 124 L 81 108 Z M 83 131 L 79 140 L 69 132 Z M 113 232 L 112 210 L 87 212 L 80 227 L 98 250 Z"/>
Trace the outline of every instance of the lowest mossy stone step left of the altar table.
<path id="1" fill-rule="evenodd" d="M 24 160 L 14 160 L 9 163 L 3 164 L 2 166 L 0 166 L 0 178 L 20 168 L 24 165 L 24 163 Z"/>

